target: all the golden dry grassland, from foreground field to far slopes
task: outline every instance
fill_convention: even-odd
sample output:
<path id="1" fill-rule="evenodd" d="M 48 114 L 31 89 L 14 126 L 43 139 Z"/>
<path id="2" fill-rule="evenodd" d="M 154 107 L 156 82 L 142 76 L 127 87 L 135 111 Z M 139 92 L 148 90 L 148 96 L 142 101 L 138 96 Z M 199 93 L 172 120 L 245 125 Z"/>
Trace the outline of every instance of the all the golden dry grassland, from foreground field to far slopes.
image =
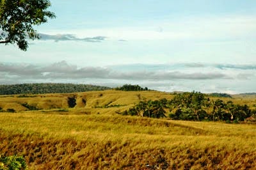
<path id="1" fill-rule="evenodd" d="M 77 105 L 68 108 L 67 98 L 74 96 Z M 157 120 L 116 114 L 143 98 L 172 97 L 157 91 L 1 96 L 0 107 L 17 112 L 0 112 L 0 154 L 23 155 L 29 169 L 256 167 L 253 124 Z M 232 100 L 255 104 L 255 98 Z M 40 110 L 28 111 L 20 105 L 25 102 Z"/>

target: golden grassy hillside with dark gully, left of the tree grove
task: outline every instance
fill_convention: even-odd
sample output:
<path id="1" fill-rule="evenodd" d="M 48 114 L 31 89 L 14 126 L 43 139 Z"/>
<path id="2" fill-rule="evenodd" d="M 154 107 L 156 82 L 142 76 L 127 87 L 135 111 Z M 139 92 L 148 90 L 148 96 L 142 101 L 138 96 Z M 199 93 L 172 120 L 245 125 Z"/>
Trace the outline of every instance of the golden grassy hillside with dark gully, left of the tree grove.
<path id="1" fill-rule="evenodd" d="M 67 94 L 2 95 L 0 96 L 0 107 L 5 111 L 7 109 L 14 109 L 17 112 L 74 108 L 70 109 L 70 112 L 101 113 L 115 112 L 119 109 L 124 111 L 124 109 L 132 107 L 140 100 L 157 100 L 160 98 L 170 99 L 172 97 L 173 95 L 169 93 L 159 91 L 116 90 L 88 91 Z M 74 105 L 70 104 L 71 100 L 75 102 Z"/>

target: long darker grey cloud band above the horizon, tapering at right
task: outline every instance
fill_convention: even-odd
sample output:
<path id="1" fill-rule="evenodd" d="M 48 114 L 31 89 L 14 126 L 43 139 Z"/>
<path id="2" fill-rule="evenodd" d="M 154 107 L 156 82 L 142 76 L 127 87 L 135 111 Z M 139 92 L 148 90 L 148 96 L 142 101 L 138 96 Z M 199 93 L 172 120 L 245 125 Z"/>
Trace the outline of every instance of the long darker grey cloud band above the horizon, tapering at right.
<path id="1" fill-rule="evenodd" d="M 186 66 L 186 65 L 185 65 Z M 190 66 L 190 65 L 189 65 Z M 129 67 L 129 65 L 127 65 Z M 136 67 L 136 66 L 135 66 Z M 138 66 L 140 67 L 140 66 Z M 148 70 L 132 70 L 119 71 L 109 67 L 92 67 L 87 66 L 77 68 L 76 65 L 68 65 L 66 61 L 53 63 L 48 66 L 27 65 L 27 64 L 4 64 L 0 63 L 0 73 L 4 77 L 19 77 L 19 79 L 84 79 L 84 78 L 100 78 L 100 79 L 119 79 L 119 80 L 166 80 L 166 79 L 231 79 L 231 77 L 221 72 L 199 72 L 195 70 L 174 70 L 172 66 L 168 70 L 152 70 L 154 66 L 148 66 Z M 223 66 L 224 67 L 224 66 Z M 147 65 L 145 65 L 147 68 Z M 151 70 L 150 70 L 151 68 Z M 156 68 L 160 66 L 156 65 Z M 1 82 L 3 83 L 3 82 Z"/>

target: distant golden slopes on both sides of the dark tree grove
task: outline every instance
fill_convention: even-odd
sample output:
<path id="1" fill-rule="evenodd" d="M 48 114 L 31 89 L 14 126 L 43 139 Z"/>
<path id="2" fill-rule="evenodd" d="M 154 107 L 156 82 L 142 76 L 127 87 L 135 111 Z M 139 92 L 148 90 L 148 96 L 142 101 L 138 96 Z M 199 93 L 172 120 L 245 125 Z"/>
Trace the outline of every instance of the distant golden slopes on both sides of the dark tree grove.
<path id="1" fill-rule="evenodd" d="M 75 112 L 81 110 L 88 113 L 97 112 L 115 112 L 124 111 L 125 109 L 132 107 L 143 98 L 147 100 L 158 100 L 161 98 L 171 99 L 173 95 L 170 93 L 164 93 L 159 91 L 89 91 L 83 93 L 70 93 L 70 94 L 44 94 L 44 95 L 28 95 L 28 97 L 19 97 L 19 95 L 6 95 L 0 96 L 0 107 L 4 110 L 15 109 L 15 111 L 27 111 L 28 109 L 20 104 L 28 103 L 38 109 L 60 109 L 68 108 L 68 97 L 76 97 Z M 211 99 L 216 100 L 216 97 Z M 221 98 L 227 102 L 232 100 L 234 104 L 247 104 L 252 108 L 256 107 L 256 98 L 252 96 L 247 97 L 243 95 L 234 95 L 234 98 Z M 84 104 L 85 101 L 86 103 Z M 111 109 L 99 109 L 105 105 L 121 105 L 122 107 L 115 107 Z M 97 107 L 97 108 L 95 108 Z"/>

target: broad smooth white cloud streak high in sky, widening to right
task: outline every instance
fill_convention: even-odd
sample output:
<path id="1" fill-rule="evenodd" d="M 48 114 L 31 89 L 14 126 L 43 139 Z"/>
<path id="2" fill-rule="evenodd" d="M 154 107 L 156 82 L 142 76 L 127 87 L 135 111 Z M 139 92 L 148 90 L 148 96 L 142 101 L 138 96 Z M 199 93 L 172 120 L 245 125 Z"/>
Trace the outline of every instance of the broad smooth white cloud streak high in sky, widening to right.
<path id="1" fill-rule="evenodd" d="M 161 28 L 161 31 L 159 31 Z M 113 40 L 241 40 L 256 37 L 256 16 L 187 17 L 145 22 L 139 27 L 66 30 L 79 37 L 107 36 Z M 58 32 L 53 33 L 57 34 Z"/>

